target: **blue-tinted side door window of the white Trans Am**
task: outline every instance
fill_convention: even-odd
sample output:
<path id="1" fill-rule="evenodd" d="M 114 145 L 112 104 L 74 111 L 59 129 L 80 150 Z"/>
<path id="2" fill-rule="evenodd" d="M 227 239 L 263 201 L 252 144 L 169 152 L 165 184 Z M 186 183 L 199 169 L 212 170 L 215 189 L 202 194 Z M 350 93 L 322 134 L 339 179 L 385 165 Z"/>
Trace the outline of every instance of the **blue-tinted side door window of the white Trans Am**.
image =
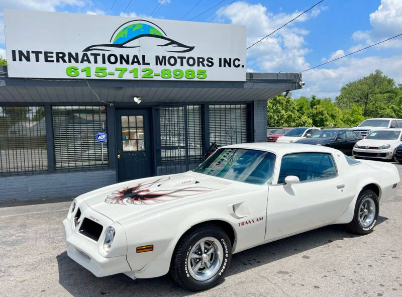
<path id="1" fill-rule="evenodd" d="M 327 178 L 337 174 L 334 160 L 325 153 L 295 153 L 282 157 L 278 183 L 285 177 L 294 175 L 300 181 Z"/>

